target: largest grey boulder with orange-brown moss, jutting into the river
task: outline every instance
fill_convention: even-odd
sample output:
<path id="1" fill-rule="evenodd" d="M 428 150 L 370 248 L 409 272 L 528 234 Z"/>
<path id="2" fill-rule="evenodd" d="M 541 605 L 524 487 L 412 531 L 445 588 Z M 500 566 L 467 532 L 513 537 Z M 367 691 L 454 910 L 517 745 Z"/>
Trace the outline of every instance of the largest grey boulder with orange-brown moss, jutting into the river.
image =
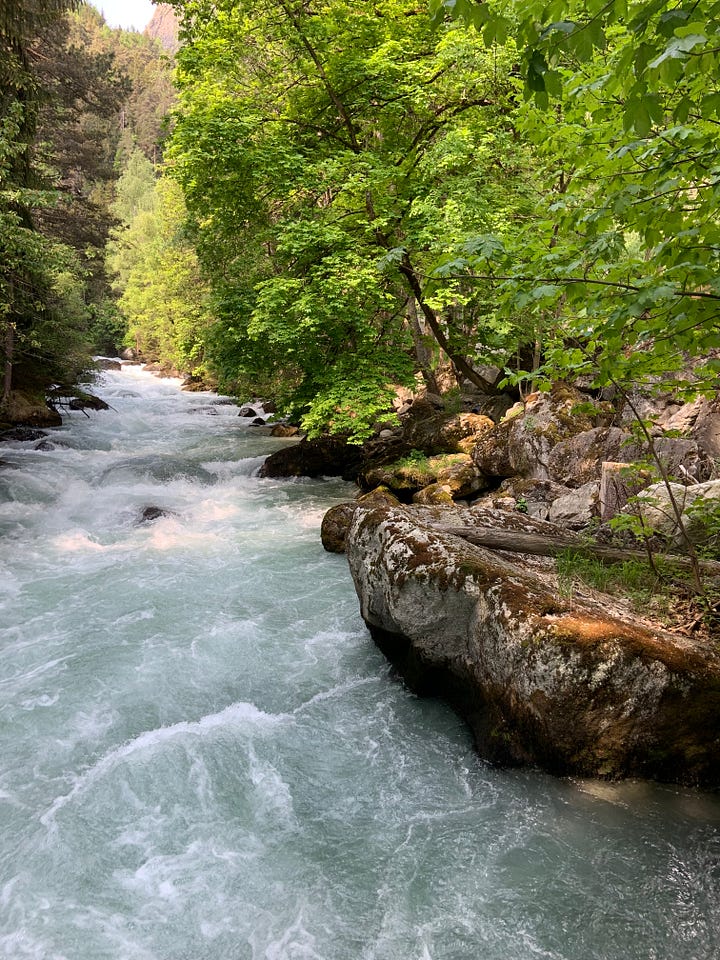
<path id="1" fill-rule="evenodd" d="M 376 642 L 416 692 L 466 718 L 482 756 L 720 786 L 715 645 L 563 598 L 552 561 L 434 531 L 433 510 L 359 505 L 346 552 Z M 451 522 L 472 524 L 473 511 Z"/>

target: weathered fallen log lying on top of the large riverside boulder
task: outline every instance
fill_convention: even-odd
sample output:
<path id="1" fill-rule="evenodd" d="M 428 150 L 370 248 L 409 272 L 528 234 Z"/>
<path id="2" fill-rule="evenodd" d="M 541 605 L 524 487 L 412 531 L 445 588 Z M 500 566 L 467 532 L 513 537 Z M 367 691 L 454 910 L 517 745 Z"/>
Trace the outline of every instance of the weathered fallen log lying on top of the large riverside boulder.
<path id="1" fill-rule="evenodd" d="M 521 530 L 499 530 L 494 527 L 460 527 L 443 523 L 428 523 L 439 533 L 448 533 L 462 537 L 468 543 L 490 550 L 508 550 L 511 553 L 529 553 L 538 557 L 555 557 L 565 550 L 572 550 L 585 556 L 595 557 L 601 563 L 622 563 L 624 560 L 644 560 L 648 555 L 644 550 L 626 547 L 610 547 L 604 543 L 594 543 L 576 534 L 548 535 L 546 533 L 528 533 Z M 691 557 L 679 554 L 662 554 L 657 557 L 682 570 L 692 570 Z M 710 577 L 720 577 L 720 562 L 700 560 L 700 570 Z"/>

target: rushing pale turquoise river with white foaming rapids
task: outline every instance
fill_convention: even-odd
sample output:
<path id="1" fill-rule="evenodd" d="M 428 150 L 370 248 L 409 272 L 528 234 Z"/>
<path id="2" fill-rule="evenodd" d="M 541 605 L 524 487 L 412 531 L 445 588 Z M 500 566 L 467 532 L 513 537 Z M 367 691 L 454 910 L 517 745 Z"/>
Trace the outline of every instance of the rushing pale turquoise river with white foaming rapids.
<path id="1" fill-rule="evenodd" d="M 718 798 L 488 767 L 320 546 L 351 487 L 258 479 L 283 441 L 211 394 L 97 389 L 0 446 L 0 956 L 720 956 Z"/>

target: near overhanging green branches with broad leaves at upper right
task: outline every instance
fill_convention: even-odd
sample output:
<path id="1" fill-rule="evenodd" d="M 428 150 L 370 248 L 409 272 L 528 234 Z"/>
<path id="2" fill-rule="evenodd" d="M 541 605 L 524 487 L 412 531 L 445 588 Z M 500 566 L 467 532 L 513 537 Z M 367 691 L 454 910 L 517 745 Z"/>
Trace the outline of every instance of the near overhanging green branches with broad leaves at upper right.
<path id="1" fill-rule="evenodd" d="M 452 267 L 493 283 L 505 312 L 530 309 L 554 372 L 599 383 L 712 389 L 720 348 L 714 2 L 431 0 L 488 43 L 522 52 L 520 126 L 544 165 L 533 228 L 477 241 Z M 461 271 L 462 272 L 462 269 Z"/>

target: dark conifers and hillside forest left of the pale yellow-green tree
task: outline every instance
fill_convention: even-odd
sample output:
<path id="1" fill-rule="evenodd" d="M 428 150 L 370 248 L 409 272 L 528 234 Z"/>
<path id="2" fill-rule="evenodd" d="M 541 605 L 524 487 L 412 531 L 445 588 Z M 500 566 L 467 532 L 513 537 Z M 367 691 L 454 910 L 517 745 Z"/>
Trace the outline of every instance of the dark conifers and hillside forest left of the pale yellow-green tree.
<path id="1" fill-rule="evenodd" d="M 74 0 L 0 10 L 0 351 L 13 389 L 72 385 L 125 331 L 105 247 L 114 184 L 159 159 L 174 91 L 159 46 Z"/>

